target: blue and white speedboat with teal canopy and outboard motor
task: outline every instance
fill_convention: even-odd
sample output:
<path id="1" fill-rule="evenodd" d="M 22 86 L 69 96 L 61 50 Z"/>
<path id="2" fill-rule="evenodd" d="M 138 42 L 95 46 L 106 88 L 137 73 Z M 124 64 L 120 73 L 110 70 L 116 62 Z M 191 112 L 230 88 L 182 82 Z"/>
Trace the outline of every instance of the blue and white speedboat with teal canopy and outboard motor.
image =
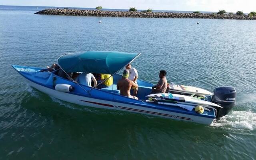
<path id="1" fill-rule="evenodd" d="M 64 54 L 58 58 L 59 70 L 63 70 L 66 74 L 72 72 L 110 74 L 114 81 L 112 86 L 102 89 L 62 78 L 58 76 L 59 70 L 42 72 L 44 68 L 17 65 L 12 65 L 12 67 L 33 88 L 57 99 L 81 106 L 210 125 L 215 118 L 224 116 L 235 105 L 236 91 L 232 87 L 219 87 L 212 95 L 200 97 L 195 94 L 188 96 L 171 92 L 150 95 L 154 84 L 137 80 L 138 100 L 120 95 L 116 85 L 122 76 L 117 73 L 139 55 L 126 52 L 88 51 Z M 196 110 L 198 106 L 204 109 L 198 112 Z"/>

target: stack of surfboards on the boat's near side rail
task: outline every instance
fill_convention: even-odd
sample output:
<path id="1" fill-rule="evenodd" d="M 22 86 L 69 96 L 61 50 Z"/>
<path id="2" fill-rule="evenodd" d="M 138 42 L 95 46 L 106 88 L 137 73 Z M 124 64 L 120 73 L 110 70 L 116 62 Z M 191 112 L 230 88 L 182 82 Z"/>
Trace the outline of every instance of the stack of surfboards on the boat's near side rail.
<path id="1" fill-rule="evenodd" d="M 163 104 L 168 106 L 178 106 L 181 108 L 185 108 L 186 110 L 192 111 L 196 106 L 202 106 L 204 110 L 210 111 L 209 109 L 220 107 L 218 104 L 208 102 L 204 99 L 204 97 L 193 97 L 192 96 L 185 96 L 180 94 L 171 94 L 171 93 L 160 93 L 160 94 L 150 94 L 146 97 L 149 99 L 146 102 L 152 102 L 157 104 Z"/>

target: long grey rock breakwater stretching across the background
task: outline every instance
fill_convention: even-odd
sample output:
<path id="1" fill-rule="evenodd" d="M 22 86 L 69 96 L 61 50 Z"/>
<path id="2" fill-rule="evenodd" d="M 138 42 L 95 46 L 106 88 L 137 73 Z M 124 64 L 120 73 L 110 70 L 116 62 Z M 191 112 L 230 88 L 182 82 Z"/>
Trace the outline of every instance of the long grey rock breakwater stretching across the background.
<path id="1" fill-rule="evenodd" d="M 208 18 L 256 20 L 256 16 L 214 14 L 214 13 L 172 13 L 172 12 L 129 12 L 106 10 L 77 10 L 77 9 L 46 9 L 35 14 L 65 15 L 65 16 L 98 16 L 98 17 L 137 17 L 137 18 Z"/>

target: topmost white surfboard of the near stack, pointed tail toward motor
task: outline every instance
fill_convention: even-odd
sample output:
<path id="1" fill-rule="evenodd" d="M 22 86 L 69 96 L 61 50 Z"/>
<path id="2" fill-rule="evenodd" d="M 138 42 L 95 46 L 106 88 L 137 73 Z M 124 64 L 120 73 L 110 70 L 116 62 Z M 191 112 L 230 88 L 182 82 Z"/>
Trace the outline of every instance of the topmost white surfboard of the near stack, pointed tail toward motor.
<path id="1" fill-rule="evenodd" d="M 162 96 L 162 98 L 160 98 Z M 166 100 L 166 101 L 170 101 L 172 103 L 175 102 L 179 102 L 181 104 L 190 104 L 190 105 L 203 105 L 205 107 L 207 106 L 214 106 L 214 107 L 220 107 L 218 104 L 212 103 L 212 102 L 208 102 L 206 100 L 200 100 L 200 99 L 196 99 L 190 96 L 185 96 L 185 95 L 180 95 L 180 94 L 172 94 L 172 98 L 169 98 L 169 94 L 168 93 L 158 93 L 158 94 L 150 94 L 146 97 L 159 97 L 159 100 Z"/>

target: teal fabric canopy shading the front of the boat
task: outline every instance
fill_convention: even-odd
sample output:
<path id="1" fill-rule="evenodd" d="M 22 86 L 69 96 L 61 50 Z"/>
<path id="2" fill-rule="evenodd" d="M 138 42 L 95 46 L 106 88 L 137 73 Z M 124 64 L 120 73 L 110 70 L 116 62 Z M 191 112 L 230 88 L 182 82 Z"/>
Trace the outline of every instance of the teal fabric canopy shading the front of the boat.
<path id="1" fill-rule="evenodd" d="M 125 52 L 88 51 L 64 54 L 58 64 L 67 73 L 89 72 L 114 74 L 132 62 L 140 54 Z"/>

